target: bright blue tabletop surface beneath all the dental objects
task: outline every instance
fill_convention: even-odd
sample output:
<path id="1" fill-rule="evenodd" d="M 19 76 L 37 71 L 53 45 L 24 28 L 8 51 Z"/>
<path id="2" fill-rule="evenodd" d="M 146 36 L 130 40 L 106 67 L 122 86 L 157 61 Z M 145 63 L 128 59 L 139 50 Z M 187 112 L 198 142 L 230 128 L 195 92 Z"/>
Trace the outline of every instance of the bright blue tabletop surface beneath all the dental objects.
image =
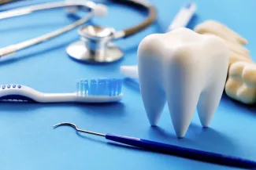
<path id="1" fill-rule="evenodd" d="M 0 10 L 43 0 L 3 5 Z M 103 65 L 76 63 L 65 47 L 79 37 L 76 30 L 49 42 L 17 52 L 15 60 L 0 63 L 0 83 L 28 85 L 42 92 L 73 92 L 81 78 L 113 77 L 121 65 L 136 64 L 136 49 L 147 34 L 163 32 L 185 1 L 150 0 L 158 9 L 158 22 L 147 30 L 117 44 L 124 49 L 124 60 Z M 249 41 L 251 57 L 256 59 L 254 0 L 196 1 L 197 16 L 189 27 L 204 20 L 219 20 Z M 74 19 L 61 9 L 1 20 L 0 47 L 53 31 Z M 138 11 L 120 5 L 109 6 L 109 15 L 93 20 L 117 30 L 138 24 L 144 19 Z M 169 112 L 165 107 L 157 128 L 151 128 L 143 108 L 139 89 L 124 84 L 124 99 L 116 104 L 9 104 L 0 107 L 0 169 L 237 169 L 192 161 L 166 154 L 151 153 L 131 147 L 106 143 L 97 136 L 77 135 L 69 127 L 53 129 L 62 121 L 76 123 L 102 133 L 150 139 L 157 142 L 213 151 L 219 154 L 256 160 L 255 107 L 243 105 L 223 96 L 210 128 L 203 129 L 198 115 L 191 122 L 184 139 L 176 139 Z"/>

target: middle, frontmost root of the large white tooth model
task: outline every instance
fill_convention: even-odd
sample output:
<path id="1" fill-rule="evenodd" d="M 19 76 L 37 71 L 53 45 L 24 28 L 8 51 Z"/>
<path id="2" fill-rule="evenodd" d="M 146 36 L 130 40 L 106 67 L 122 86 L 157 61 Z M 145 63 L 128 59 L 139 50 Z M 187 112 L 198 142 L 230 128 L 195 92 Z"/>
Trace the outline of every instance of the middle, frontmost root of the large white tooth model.
<path id="1" fill-rule="evenodd" d="M 178 138 L 183 138 L 187 132 L 195 113 L 200 91 L 196 81 L 198 70 L 195 68 L 195 63 L 184 57 L 186 56 L 177 56 L 177 61 L 174 61 L 176 59 L 169 61 L 170 64 L 166 67 L 168 71 L 165 74 L 169 113 Z"/>

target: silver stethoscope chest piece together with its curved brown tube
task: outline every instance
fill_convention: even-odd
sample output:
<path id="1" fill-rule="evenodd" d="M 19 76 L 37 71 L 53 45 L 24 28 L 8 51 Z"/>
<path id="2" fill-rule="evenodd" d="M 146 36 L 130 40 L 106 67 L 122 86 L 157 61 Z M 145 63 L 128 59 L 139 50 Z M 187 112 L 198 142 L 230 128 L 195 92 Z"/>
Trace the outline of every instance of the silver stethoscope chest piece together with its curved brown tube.
<path id="1" fill-rule="evenodd" d="M 140 24 L 115 31 L 113 27 L 98 27 L 87 25 L 80 27 L 78 34 L 80 41 L 70 44 L 66 52 L 72 59 L 87 63 L 111 63 L 120 60 L 124 52 L 113 44 L 113 40 L 128 38 L 129 36 L 143 31 L 156 20 L 156 9 L 147 2 L 139 0 L 111 0 L 109 2 L 121 3 L 134 7 L 140 11 L 147 11 L 147 18 Z"/>

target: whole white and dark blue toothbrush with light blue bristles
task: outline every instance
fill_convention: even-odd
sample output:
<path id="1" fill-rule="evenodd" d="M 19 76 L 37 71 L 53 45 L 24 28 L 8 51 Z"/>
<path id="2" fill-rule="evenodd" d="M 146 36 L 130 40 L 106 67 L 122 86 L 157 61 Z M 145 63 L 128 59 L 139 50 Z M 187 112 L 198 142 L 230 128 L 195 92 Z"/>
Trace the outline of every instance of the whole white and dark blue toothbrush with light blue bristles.
<path id="1" fill-rule="evenodd" d="M 123 98 L 122 79 L 98 78 L 80 80 L 76 92 L 43 93 L 25 85 L 0 85 L 0 100 L 33 103 L 109 103 Z"/>

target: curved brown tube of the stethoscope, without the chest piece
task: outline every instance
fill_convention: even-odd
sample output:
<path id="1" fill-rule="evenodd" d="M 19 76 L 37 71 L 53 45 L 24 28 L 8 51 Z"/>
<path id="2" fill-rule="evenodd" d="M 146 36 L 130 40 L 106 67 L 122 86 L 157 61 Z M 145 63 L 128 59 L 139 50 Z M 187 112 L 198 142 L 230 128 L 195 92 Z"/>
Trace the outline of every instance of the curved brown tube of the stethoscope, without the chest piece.
<path id="1" fill-rule="evenodd" d="M 112 2 L 115 3 L 120 3 L 120 4 L 124 4 L 124 5 L 128 5 L 130 7 L 134 7 L 136 9 L 146 9 L 148 16 L 147 18 L 141 23 L 141 24 L 137 24 L 134 27 L 129 27 L 127 29 L 124 29 L 123 31 L 118 31 L 118 33 L 122 32 L 123 35 L 121 38 L 127 38 L 133 34 L 139 33 L 139 31 L 143 31 L 143 29 L 145 29 L 146 27 L 148 27 L 150 24 L 153 24 L 154 21 L 157 18 L 157 11 L 154 8 L 154 6 L 146 3 L 146 2 L 141 2 L 138 0 L 111 0 Z"/>

